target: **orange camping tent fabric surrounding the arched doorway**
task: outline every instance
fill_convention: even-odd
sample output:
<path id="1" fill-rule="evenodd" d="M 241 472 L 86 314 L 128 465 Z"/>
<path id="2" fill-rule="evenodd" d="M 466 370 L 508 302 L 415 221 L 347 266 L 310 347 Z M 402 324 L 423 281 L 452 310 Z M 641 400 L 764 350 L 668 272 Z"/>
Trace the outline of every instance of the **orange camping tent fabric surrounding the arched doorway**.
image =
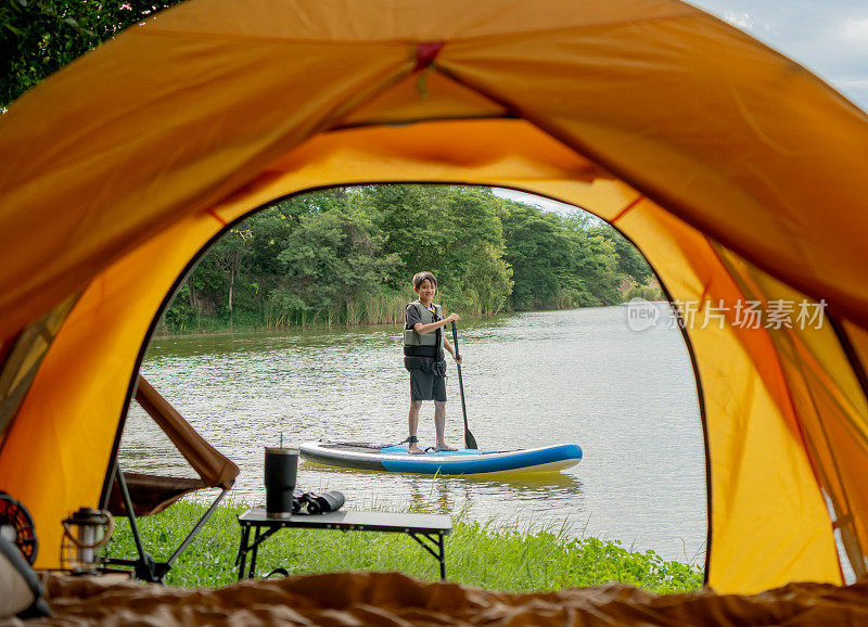
<path id="1" fill-rule="evenodd" d="M 0 448 L 43 546 L 105 496 L 149 330 L 208 241 L 310 189 L 455 182 L 588 209 L 674 300 L 729 308 L 686 330 L 716 590 L 840 584 L 835 529 L 864 571 L 868 119 L 699 10 L 192 0 L 13 103 L 0 155 L 0 342 L 81 293 Z M 781 297 L 829 324 L 732 317 Z"/>

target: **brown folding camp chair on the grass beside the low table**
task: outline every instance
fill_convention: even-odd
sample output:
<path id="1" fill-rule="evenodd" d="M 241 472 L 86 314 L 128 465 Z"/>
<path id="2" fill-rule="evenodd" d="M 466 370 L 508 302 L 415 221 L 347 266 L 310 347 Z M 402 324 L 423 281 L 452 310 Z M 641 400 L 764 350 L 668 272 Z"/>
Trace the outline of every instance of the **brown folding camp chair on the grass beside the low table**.
<path id="1" fill-rule="evenodd" d="M 116 516 L 126 515 L 129 519 L 132 538 L 139 556 L 136 560 L 106 558 L 104 563 L 110 567 L 132 567 L 138 579 L 162 583 L 178 555 L 187 549 L 188 545 L 214 513 L 226 492 L 232 487 L 239 469 L 231 460 L 205 442 L 190 426 L 190 423 L 141 375 L 139 375 L 136 400 L 169 437 L 188 463 L 196 471 L 200 478 L 126 473 L 120 471 L 119 465 L 116 465 L 115 481 L 108 497 L 107 509 Z M 165 562 L 154 560 L 144 550 L 139 526 L 136 522 L 137 516 L 156 514 L 187 494 L 216 487 L 222 488 L 222 491 L 169 559 Z"/>

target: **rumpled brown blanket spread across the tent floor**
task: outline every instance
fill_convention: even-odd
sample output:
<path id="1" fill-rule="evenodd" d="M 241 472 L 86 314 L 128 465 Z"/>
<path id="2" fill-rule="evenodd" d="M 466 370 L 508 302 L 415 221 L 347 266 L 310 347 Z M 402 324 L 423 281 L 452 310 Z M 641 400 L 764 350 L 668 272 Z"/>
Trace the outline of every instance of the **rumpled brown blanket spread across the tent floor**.
<path id="1" fill-rule="evenodd" d="M 54 616 L 26 625 L 868 625 L 868 583 L 790 585 L 751 597 L 654 597 L 623 585 L 538 594 L 341 573 L 182 589 L 105 578 L 47 579 Z M 2 622 L 0 622 L 2 623 Z M 9 624 L 21 624 L 11 622 Z"/>

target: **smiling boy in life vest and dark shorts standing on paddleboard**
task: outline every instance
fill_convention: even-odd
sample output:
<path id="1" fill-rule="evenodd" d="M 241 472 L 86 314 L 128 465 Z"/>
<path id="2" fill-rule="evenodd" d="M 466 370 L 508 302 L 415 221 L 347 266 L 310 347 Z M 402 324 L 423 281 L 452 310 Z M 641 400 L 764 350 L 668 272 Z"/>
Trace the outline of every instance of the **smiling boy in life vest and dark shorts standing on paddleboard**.
<path id="1" fill-rule="evenodd" d="M 444 439 L 446 428 L 446 361 L 444 348 L 458 363 L 455 348 L 449 344 L 443 328 L 458 320 L 458 314 L 443 318 L 443 309 L 434 305 L 437 280 L 431 272 L 418 272 L 413 277 L 413 290 L 419 299 L 407 305 L 404 324 L 404 366 L 410 371 L 410 437 L 408 450 L 422 455 L 416 430 L 419 426 L 419 409 L 423 400 L 434 401 L 434 428 L 437 432 L 437 450 L 456 450 Z"/>

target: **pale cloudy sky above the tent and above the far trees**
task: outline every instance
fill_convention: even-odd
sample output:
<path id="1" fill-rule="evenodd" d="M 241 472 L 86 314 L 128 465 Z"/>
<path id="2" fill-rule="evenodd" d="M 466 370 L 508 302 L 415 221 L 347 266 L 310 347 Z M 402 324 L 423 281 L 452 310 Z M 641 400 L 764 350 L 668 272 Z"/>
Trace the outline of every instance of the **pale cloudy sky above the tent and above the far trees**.
<path id="1" fill-rule="evenodd" d="M 868 111 L 868 0 L 691 0 L 807 67 Z M 499 196 L 569 213 L 571 205 L 522 192 Z"/>

